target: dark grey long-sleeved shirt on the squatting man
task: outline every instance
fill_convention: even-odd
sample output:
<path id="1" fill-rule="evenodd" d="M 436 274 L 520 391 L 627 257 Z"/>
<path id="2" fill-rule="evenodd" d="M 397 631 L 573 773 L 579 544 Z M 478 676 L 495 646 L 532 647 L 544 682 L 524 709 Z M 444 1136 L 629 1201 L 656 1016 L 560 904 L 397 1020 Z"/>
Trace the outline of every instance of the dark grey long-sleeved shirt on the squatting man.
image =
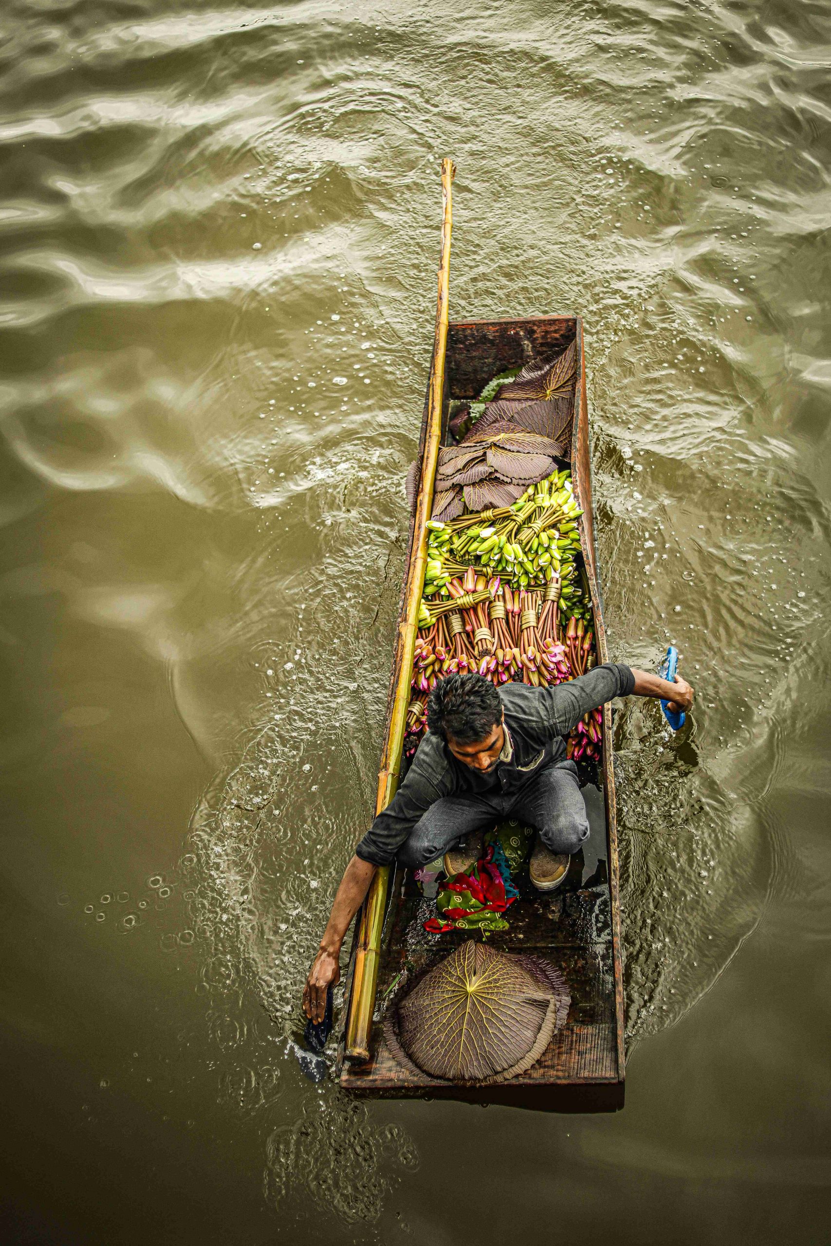
<path id="1" fill-rule="evenodd" d="M 583 714 L 634 688 L 629 667 L 607 663 L 553 688 L 502 684 L 498 689 L 512 745 L 508 761 L 481 774 L 458 761 L 445 741 L 427 731 L 406 778 L 355 849 L 361 861 L 389 865 L 421 815 L 444 796 L 498 787 L 520 794 L 529 779 L 566 756 L 566 739 Z"/>

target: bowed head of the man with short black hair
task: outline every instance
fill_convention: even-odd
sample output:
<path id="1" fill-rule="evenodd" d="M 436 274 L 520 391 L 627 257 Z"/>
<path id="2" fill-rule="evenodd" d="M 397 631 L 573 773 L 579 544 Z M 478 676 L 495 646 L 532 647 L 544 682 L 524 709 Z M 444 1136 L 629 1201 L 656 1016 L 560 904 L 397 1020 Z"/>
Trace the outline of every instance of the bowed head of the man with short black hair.
<path id="1" fill-rule="evenodd" d="M 505 744 L 500 694 L 482 675 L 447 675 L 430 693 L 427 728 L 472 770 L 493 770 Z"/>

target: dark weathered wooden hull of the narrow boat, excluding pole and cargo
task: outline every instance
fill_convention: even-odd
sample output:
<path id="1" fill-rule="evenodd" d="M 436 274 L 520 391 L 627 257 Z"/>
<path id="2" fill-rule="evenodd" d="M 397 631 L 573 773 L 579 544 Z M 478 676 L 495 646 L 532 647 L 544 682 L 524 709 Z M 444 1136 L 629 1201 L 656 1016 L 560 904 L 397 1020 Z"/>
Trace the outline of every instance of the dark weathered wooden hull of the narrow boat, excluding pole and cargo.
<path id="1" fill-rule="evenodd" d="M 450 402 L 475 399 L 492 376 L 529 361 L 544 361 L 577 343 L 578 373 L 571 445 L 573 488 L 583 510 L 579 521 L 586 576 L 592 594 L 598 662 L 607 660 L 603 606 L 594 546 L 592 464 L 586 401 L 583 326 L 576 316 L 532 316 L 511 320 L 462 320 L 449 325 L 445 365 L 445 429 Z M 426 407 L 420 455 L 426 436 Z M 446 439 L 446 432 L 445 432 Z M 412 552 L 412 522 L 410 547 Z M 405 577 L 406 579 L 406 577 Z M 404 607 L 404 594 L 401 607 Z M 400 635 L 400 629 L 399 629 Z M 396 644 L 387 704 L 387 729 L 392 690 L 401 662 Z M 404 1069 L 384 1038 L 381 1017 L 386 998 L 402 981 L 430 968 L 451 948 L 470 938 L 453 931 L 437 942 L 420 939 L 420 892 L 396 871 L 390 886 L 378 982 L 376 1023 L 370 1059 L 340 1064 L 344 1089 L 373 1098 L 442 1098 L 470 1103 L 498 1103 L 537 1110 L 598 1111 L 623 1106 L 624 996 L 618 902 L 618 845 L 612 764 L 610 706 L 603 709 L 601 786 L 586 789 L 589 824 L 588 849 L 593 873 L 584 860 L 574 860 L 563 887 L 539 896 L 526 887 L 508 911 L 510 928 L 490 937 L 508 952 L 544 956 L 558 968 L 572 996 L 566 1024 L 553 1035 L 541 1059 L 525 1074 L 492 1087 L 441 1083 Z M 588 875 L 588 877 L 584 877 Z M 415 936 L 415 937 L 414 937 Z M 350 989 L 350 977 L 346 991 Z"/>

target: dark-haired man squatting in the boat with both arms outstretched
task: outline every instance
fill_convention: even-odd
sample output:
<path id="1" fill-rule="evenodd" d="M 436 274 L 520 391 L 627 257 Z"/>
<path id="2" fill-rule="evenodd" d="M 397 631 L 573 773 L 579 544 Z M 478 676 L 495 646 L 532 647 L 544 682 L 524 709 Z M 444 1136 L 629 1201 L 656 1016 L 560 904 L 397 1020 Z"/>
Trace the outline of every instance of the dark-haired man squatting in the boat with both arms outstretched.
<path id="1" fill-rule="evenodd" d="M 303 992 L 306 1017 L 321 1020 L 326 989 L 340 979 L 349 923 L 376 868 L 397 857 L 409 868 L 444 857 L 447 873 L 468 870 L 483 832 L 507 817 L 536 827 L 531 882 L 552 891 L 588 836 L 577 766 L 566 740 L 581 718 L 614 697 L 663 697 L 689 710 L 693 689 L 608 663 L 554 688 L 502 684 L 481 675 L 441 679 L 427 703 L 427 734 L 395 796 L 355 849 L 338 888 Z"/>

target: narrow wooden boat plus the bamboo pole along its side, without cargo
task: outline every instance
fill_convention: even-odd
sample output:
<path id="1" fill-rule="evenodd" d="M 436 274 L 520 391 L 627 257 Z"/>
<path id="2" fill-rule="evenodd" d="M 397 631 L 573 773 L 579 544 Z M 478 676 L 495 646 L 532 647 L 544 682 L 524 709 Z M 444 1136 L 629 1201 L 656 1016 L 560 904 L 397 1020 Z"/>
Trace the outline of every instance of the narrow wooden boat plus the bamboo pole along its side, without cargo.
<path id="1" fill-rule="evenodd" d="M 449 164 L 449 162 L 446 162 Z M 414 630 L 412 602 L 420 596 L 424 566 L 417 559 L 425 518 L 430 513 L 432 476 L 437 445 L 447 434 L 449 405 L 455 399 L 476 399 L 497 374 L 529 361 L 544 361 L 577 343 L 578 373 L 571 468 L 576 496 L 583 508 L 579 521 L 586 578 L 591 589 L 598 660 L 607 660 L 602 599 L 592 522 L 592 472 L 586 404 L 583 326 L 578 316 L 538 315 L 507 320 L 463 320 L 446 316 L 446 269 L 449 259 L 449 201 L 452 167 L 445 168 L 445 245 L 436 318 L 436 349 L 421 424 L 421 485 L 419 505 L 410 525 L 407 572 L 401 599 L 386 720 L 386 748 L 379 780 L 379 807 L 395 787 L 400 764 L 402 698 L 409 694 Z M 440 341 L 444 314 L 444 343 Z M 444 350 L 441 346 L 444 345 Z M 435 445 L 431 446 L 431 439 Z M 415 587 L 414 587 L 415 586 Z M 551 961 L 568 983 L 572 1003 L 566 1024 L 553 1035 L 542 1058 L 511 1082 L 488 1087 L 440 1083 L 426 1074 L 405 1070 L 389 1050 L 378 1023 L 386 1001 L 392 997 L 402 969 L 410 976 L 429 968 L 451 948 L 470 938 L 470 932 L 452 931 L 439 941 L 422 934 L 419 912 L 422 903 L 417 885 L 400 868 L 379 871 L 356 934 L 346 979 L 345 1027 L 339 1068 L 345 1090 L 375 1098 L 451 1098 L 500 1103 L 543 1110 L 614 1110 L 623 1105 L 624 996 L 618 907 L 618 846 L 615 831 L 614 775 L 612 768 L 610 706 L 603 709 L 602 784 L 587 800 L 592 832 L 586 867 L 579 856 L 572 862 L 563 887 L 548 896 L 529 885 L 510 910 L 510 927 L 488 942 L 505 951 L 532 952 Z M 397 750 L 397 755 L 396 755 Z M 591 875 L 591 877 L 589 877 Z M 586 876 L 586 877 L 584 877 Z M 389 903 L 387 903 L 389 897 Z M 373 1020 L 375 1023 L 373 1024 Z"/>

